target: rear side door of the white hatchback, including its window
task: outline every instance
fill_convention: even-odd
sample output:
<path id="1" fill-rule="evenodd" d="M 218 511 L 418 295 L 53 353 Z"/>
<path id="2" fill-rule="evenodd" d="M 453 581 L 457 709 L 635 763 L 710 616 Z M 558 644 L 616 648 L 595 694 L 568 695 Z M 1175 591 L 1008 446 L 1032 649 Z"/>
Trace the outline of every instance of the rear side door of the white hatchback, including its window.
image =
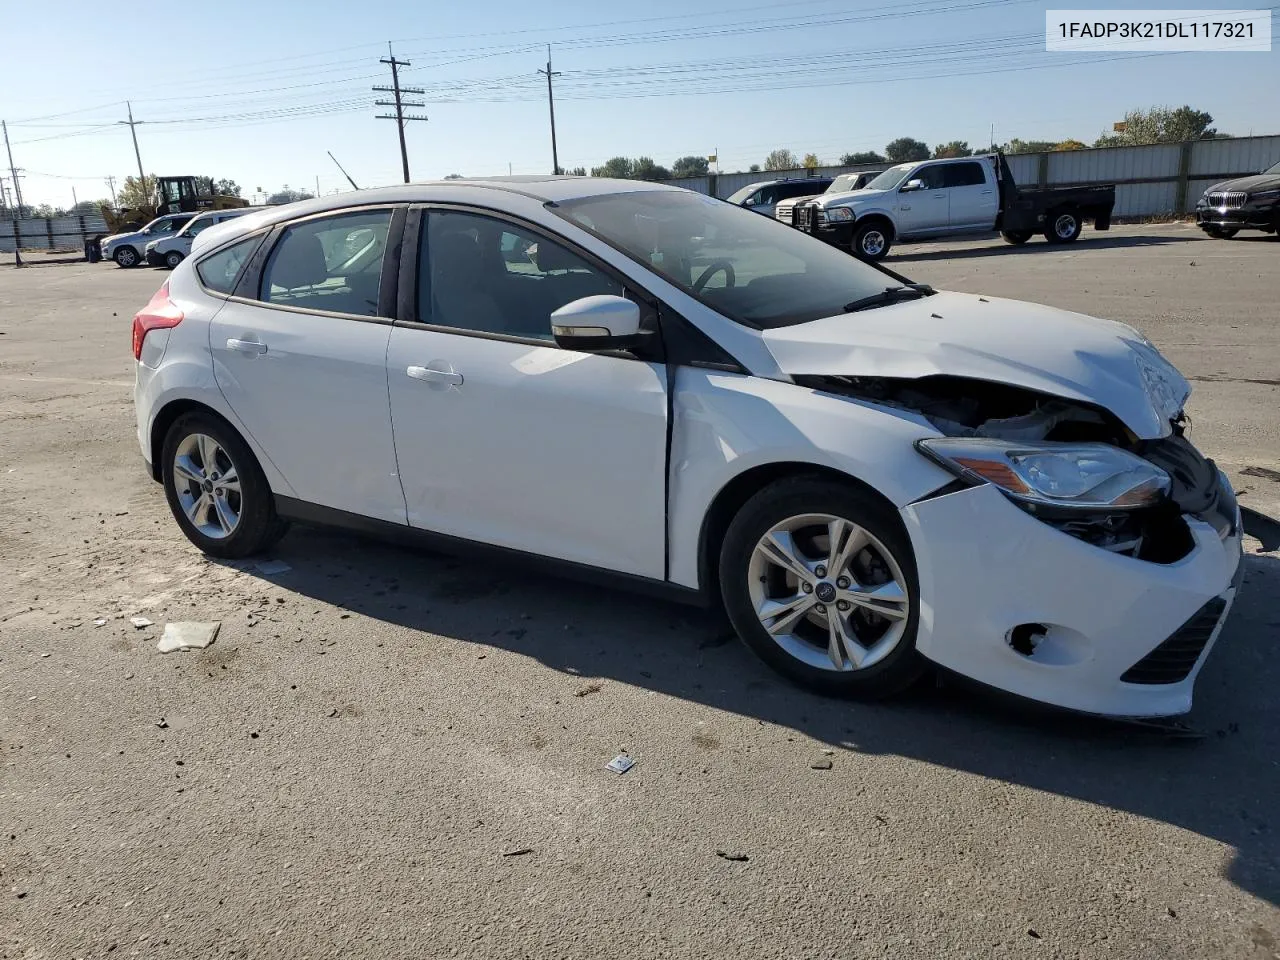
<path id="1" fill-rule="evenodd" d="M 278 228 L 209 330 L 219 389 L 292 488 L 275 493 L 398 524 L 387 343 L 403 219 L 365 207 Z M 196 265 L 211 291 L 218 256 Z"/>

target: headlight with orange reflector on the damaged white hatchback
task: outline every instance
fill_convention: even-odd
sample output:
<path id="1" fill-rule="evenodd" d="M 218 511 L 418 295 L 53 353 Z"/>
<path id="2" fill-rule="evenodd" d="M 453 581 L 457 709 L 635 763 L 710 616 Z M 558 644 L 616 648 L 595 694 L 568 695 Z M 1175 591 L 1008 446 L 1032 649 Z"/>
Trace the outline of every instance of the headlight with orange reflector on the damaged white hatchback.
<path id="1" fill-rule="evenodd" d="M 995 484 L 1024 504 L 1128 511 L 1151 507 L 1169 494 L 1169 474 L 1106 443 L 940 436 L 915 447 L 960 479 Z"/>

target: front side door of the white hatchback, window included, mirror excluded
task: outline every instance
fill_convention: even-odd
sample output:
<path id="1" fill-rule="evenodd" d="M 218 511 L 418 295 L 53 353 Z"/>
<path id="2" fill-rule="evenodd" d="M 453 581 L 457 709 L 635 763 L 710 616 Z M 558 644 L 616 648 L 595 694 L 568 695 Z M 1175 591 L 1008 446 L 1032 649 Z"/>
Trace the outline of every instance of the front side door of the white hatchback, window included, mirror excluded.
<path id="1" fill-rule="evenodd" d="M 408 522 L 662 579 L 666 367 L 564 349 L 550 332 L 552 311 L 626 285 L 553 234 L 479 210 L 411 220 L 401 271 L 413 283 L 387 369 Z"/>

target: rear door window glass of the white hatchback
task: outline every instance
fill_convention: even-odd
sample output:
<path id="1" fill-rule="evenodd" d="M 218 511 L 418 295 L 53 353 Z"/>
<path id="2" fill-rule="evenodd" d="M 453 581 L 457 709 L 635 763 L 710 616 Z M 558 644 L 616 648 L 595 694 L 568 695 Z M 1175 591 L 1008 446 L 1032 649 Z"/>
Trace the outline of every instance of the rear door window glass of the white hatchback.
<path id="1" fill-rule="evenodd" d="M 268 303 L 378 316 L 390 210 L 361 210 L 289 227 L 262 271 Z"/>

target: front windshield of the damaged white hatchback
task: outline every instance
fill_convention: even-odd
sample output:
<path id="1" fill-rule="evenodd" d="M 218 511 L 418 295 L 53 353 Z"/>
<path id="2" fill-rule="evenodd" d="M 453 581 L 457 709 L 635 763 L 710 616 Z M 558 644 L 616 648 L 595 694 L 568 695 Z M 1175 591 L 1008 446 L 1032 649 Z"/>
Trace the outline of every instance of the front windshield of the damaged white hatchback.
<path id="1" fill-rule="evenodd" d="M 607 193 L 550 209 L 756 329 L 836 316 L 895 282 L 819 239 L 691 191 Z"/>

